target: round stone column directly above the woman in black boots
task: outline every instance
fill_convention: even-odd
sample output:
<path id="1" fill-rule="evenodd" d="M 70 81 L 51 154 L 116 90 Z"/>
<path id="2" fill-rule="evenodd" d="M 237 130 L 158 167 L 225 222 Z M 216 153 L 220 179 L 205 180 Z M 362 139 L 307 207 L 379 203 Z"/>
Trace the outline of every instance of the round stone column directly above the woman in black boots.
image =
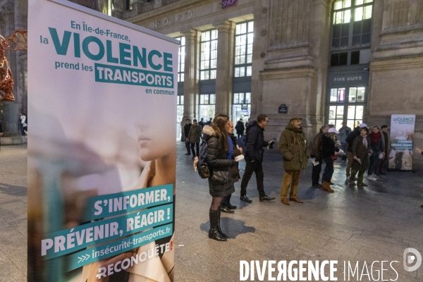
<path id="1" fill-rule="evenodd" d="M 232 118 L 233 44 L 235 23 L 225 20 L 217 29 L 216 114 Z"/>

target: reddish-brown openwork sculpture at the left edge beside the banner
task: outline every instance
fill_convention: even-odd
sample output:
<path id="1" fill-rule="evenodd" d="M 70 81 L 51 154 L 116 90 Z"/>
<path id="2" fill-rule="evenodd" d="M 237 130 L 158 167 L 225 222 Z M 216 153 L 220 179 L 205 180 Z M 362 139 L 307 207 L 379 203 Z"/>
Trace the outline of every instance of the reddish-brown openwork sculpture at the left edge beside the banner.
<path id="1" fill-rule="evenodd" d="M 16 30 L 5 39 L 0 35 L 0 101 L 14 101 L 12 71 L 6 58 L 6 50 L 27 50 L 27 31 Z"/>

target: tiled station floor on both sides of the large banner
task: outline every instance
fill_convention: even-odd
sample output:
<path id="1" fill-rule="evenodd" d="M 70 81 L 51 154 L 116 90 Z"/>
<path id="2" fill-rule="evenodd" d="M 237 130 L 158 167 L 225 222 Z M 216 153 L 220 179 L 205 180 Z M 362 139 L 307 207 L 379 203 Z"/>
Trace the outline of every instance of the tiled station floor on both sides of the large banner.
<path id="1" fill-rule="evenodd" d="M 393 264 L 397 281 L 423 281 L 423 266 L 414 272 L 403 268 L 406 247 L 423 254 L 422 172 L 390 172 L 369 188 L 350 188 L 344 185 L 345 163 L 336 161 L 335 192 L 329 194 L 310 188 L 308 167 L 301 173 L 298 193 L 305 203 L 288 207 L 278 201 L 281 156 L 266 151 L 265 190 L 276 200 L 259 202 L 253 176 L 247 188 L 253 202 L 240 202 L 240 182 L 235 183 L 231 203 L 238 209 L 222 214 L 221 226 L 229 239 L 220 243 L 207 237 L 207 180 L 194 173 L 190 156 L 183 155 L 183 143 L 177 147 L 176 281 L 240 281 L 240 260 L 294 259 L 338 260 L 338 281 L 344 281 L 344 261 L 359 262 L 360 273 L 364 262 L 371 271 L 374 261 L 398 261 Z M 1 147 L 0 177 L 0 281 L 26 281 L 26 145 Z M 381 264 L 374 264 L 375 279 L 380 269 Z M 384 279 L 396 278 L 389 266 L 384 269 L 389 269 Z M 258 281 L 257 274 L 255 278 Z M 362 281 L 369 280 L 363 276 Z"/>

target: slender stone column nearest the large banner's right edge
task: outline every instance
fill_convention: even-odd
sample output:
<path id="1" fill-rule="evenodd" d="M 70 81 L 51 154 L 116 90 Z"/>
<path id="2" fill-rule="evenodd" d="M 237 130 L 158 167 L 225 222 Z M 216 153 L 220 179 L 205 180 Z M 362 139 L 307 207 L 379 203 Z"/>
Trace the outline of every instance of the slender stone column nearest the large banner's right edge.
<path id="1" fill-rule="evenodd" d="M 185 37 L 185 68 L 183 82 L 183 120 L 181 121 L 181 130 L 187 118 L 194 118 L 198 112 L 198 93 L 200 78 L 200 35 L 199 30 L 188 30 L 182 32 Z M 182 133 L 181 141 L 185 140 Z"/>

